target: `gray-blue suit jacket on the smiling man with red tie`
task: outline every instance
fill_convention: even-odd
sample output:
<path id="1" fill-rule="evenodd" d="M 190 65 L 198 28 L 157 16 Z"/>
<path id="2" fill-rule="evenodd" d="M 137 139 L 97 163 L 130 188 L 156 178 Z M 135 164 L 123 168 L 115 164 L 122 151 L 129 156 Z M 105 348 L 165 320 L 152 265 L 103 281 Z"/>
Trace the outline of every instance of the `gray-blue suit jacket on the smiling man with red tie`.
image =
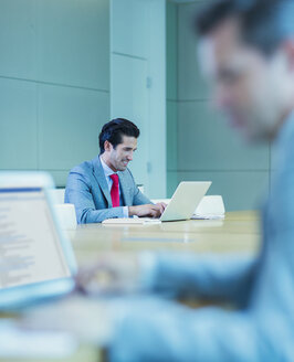
<path id="1" fill-rule="evenodd" d="M 138 190 L 128 169 L 119 171 L 117 174 L 124 206 L 151 203 Z M 78 224 L 101 223 L 105 219 L 124 217 L 123 206 L 113 207 L 107 181 L 98 156 L 91 161 L 76 166 L 70 171 L 64 202 L 75 205 Z"/>

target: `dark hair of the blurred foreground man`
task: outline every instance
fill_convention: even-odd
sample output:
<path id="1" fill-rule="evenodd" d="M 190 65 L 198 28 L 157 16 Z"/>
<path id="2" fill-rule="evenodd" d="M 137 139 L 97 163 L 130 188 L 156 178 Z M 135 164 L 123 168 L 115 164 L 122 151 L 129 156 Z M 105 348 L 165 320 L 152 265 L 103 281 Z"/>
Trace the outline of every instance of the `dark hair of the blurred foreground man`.
<path id="1" fill-rule="evenodd" d="M 265 55 L 294 35 L 294 0 L 213 1 L 197 14 L 195 26 L 200 35 L 207 35 L 231 17 L 240 19 L 241 39 Z"/>

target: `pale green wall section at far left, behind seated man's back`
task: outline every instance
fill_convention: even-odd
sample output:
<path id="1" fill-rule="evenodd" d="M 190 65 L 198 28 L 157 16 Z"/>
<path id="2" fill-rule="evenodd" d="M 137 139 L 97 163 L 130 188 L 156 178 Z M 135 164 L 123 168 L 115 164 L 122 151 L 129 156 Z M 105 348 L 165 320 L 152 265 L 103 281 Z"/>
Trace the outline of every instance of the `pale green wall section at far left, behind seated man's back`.
<path id="1" fill-rule="evenodd" d="M 63 185 L 109 118 L 108 0 L 1 0 L 0 169 Z"/>

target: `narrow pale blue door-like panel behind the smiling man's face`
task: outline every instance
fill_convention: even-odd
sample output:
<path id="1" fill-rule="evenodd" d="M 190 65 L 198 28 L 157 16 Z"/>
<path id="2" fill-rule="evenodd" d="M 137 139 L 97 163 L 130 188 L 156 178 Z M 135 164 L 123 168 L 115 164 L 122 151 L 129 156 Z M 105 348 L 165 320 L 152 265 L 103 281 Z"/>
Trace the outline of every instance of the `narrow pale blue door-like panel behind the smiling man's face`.
<path id="1" fill-rule="evenodd" d="M 166 3 L 111 1 L 111 115 L 140 128 L 129 168 L 150 198 L 166 195 Z"/>

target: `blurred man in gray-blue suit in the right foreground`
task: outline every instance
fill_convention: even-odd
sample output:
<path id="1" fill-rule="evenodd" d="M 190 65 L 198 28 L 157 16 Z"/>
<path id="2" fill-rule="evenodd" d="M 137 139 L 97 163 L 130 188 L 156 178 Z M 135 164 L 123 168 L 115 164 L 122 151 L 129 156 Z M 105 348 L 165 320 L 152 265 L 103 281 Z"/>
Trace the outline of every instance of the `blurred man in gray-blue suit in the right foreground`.
<path id="1" fill-rule="evenodd" d="M 197 30 L 217 104 L 249 140 L 273 142 L 262 248 L 254 258 L 129 256 L 134 286 L 227 300 L 238 309 L 192 310 L 164 300 L 132 305 L 114 328 L 109 360 L 294 361 L 294 0 L 209 1 Z M 126 268 L 119 258 L 109 258 L 107 268 L 124 289 L 132 280 L 119 272 Z M 81 274 L 82 286 L 105 273 L 103 263 L 92 276 Z"/>

